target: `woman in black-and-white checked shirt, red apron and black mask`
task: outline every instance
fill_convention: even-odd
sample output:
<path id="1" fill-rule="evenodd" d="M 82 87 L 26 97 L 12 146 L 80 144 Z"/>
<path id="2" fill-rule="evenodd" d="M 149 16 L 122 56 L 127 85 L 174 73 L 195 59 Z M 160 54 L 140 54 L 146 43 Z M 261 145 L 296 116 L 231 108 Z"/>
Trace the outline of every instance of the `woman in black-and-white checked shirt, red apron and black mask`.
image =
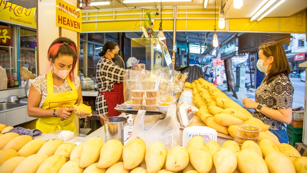
<path id="1" fill-rule="evenodd" d="M 115 110 L 116 104 L 124 102 L 123 94 L 123 72 L 128 71 L 113 63 L 112 59 L 118 56 L 119 46 L 114 41 L 108 41 L 103 45 L 99 56 L 103 58 L 97 63 L 96 79 L 98 87 L 98 96 L 96 97 L 96 112 L 97 117 L 104 125 L 103 119 L 99 114 L 107 117 L 118 116 L 120 112 Z M 133 69 L 138 69 L 139 61 L 134 65 Z"/>

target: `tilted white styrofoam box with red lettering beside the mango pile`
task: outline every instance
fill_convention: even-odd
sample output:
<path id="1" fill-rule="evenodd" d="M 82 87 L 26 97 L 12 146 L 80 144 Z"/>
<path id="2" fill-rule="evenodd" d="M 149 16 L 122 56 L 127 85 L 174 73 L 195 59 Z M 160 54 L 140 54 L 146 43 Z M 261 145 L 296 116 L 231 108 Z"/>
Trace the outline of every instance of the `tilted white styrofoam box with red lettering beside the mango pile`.
<path id="1" fill-rule="evenodd" d="M 190 105 L 184 105 L 184 104 L 180 105 L 179 111 L 178 111 L 178 117 L 179 117 L 180 124 L 184 127 L 187 127 L 194 120 L 192 107 Z"/>

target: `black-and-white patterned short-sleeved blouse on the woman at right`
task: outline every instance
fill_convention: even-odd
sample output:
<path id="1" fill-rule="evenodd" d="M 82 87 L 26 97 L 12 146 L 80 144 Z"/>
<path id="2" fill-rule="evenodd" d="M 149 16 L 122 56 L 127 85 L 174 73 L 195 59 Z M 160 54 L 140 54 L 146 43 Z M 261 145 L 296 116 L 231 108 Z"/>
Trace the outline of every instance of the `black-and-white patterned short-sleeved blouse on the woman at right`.
<path id="1" fill-rule="evenodd" d="M 275 110 L 288 109 L 292 108 L 293 92 L 294 87 L 289 78 L 281 73 L 268 85 L 262 81 L 261 85 L 256 89 L 255 101 Z M 271 119 L 258 111 L 255 111 L 253 116 L 269 125 L 272 130 L 286 129 L 284 123 Z"/>

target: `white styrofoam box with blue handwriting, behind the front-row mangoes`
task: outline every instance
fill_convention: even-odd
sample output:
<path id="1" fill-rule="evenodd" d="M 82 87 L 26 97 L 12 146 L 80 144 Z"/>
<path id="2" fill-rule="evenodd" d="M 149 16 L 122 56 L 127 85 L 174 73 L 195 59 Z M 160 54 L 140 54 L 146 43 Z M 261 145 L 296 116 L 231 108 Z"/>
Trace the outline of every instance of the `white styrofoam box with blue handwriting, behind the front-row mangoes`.
<path id="1" fill-rule="evenodd" d="M 216 130 L 206 126 L 191 126 L 186 127 L 183 130 L 182 147 L 188 145 L 189 140 L 193 136 L 202 136 L 204 138 L 204 143 L 207 143 L 209 141 L 217 141 Z"/>

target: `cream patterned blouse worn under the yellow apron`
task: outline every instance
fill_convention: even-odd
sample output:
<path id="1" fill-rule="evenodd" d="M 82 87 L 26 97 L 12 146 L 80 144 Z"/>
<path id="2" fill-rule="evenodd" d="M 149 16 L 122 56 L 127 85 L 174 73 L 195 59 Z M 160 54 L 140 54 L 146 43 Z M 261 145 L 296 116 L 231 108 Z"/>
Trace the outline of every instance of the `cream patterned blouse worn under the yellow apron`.
<path id="1" fill-rule="evenodd" d="M 80 78 L 79 76 L 74 77 L 74 84 L 76 86 L 76 90 L 78 90 L 80 86 Z M 46 100 L 47 97 L 47 79 L 46 79 L 46 74 L 41 73 L 39 76 L 37 76 L 35 79 L 29 79 L 29 88 L 31 85 L 35 87 L 35 89 L 41 94 L 41 102 L 39 103 L 38 107 L 41 107 L 43 103 Z M 29 89 L 30 90 L 30 89 Z M 29 90 L 27 91 L 27 96 L 29 96 Z M 54 93 L 64 93 L 64 92 L 69 92 L 72 91 L 70 88 L 67 79 L 65 78 L 64 83 L 61 84 L 59 87 L 53 85 L 53 92 Z"/>

